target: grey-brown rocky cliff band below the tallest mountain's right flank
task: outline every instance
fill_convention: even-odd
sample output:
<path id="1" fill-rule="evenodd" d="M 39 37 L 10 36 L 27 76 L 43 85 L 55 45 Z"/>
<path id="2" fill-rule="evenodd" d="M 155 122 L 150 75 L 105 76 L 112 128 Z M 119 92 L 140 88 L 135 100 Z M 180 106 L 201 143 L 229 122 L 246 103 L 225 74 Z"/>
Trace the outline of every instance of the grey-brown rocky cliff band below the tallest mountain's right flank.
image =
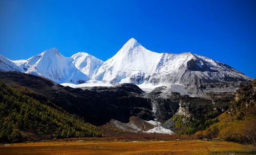
<path id="1" fill-rule="evenodd" d="M 146 93 L 145 97 L 151 99 L 153 113 L 157 121 L 164 122 L 176 114 L 196 119 L 197 112 L 202 111 L 205 104 L 214 105 L 219 113 L 226 111 L 236 90 L 247 83 L 200 84 L 184 88 L 177 87 L 177 89 L 162 86 Z M 184 89 L 185 92 L 182 92 L 181 89 Z M 169 90 L 177 90 L 182 94 Z"/>

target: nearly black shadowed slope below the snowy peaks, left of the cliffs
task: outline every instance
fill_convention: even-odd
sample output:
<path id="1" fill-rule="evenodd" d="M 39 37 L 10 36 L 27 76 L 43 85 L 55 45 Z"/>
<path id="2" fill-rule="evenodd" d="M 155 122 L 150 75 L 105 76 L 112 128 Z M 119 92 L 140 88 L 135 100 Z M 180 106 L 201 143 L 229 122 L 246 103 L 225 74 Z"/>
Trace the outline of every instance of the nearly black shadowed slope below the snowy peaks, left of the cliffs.
<path id="1" fill-rule="evenodd" d="M 150 100 L 140 96 L 143 91 L 134 84 L 74 89 L 45 77 L 21 72 L 1 72 L 0 80 L 6 85 L 27 87 L 38 93 L 40 99 L 49 99 L 58 107 L 94 125 L 105 124 L 111 119 L 129 122 L 131 116 L 154 119 Z"/>

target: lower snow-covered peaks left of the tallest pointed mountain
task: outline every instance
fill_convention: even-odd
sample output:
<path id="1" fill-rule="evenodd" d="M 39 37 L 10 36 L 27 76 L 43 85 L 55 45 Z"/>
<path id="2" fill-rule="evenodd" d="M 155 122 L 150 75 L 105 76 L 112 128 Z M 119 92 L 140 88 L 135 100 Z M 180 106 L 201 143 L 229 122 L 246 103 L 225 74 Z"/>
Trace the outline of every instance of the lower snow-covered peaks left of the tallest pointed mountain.
<path id="1" fill-rule="evenodd" d="M 5 57 L 2 59 L 8 60 Z M 89 76 L 91 76 L 92 70 L 97 69 L 99 64 L 102 63 L 101 60 L 87 53 L 78 53 L 67 58 L 62 56 L 56 48 L 45 50 L 28 60 L 9 60 L 5 62 L 14 69 L 11 70 L 7 68 L 2 69 L 3 71 L 20 71 L 44 76 L 57 83 L 75 84 L 90 80 Z M 87 62 L 87 65 L 84 66 L 84 62 Z M 6 67 L 1 66 L 1 68 Z"/>

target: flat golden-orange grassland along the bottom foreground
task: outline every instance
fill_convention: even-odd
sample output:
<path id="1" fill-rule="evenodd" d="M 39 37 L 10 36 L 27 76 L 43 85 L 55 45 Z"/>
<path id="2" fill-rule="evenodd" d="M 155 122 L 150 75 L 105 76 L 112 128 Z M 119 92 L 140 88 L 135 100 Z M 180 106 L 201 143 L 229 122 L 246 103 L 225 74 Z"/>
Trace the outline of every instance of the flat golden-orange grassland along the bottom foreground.
<path id="1" fill-rule="evenodd" d="M 255 154 L 252 146 L 223 141 L 56 141 L 0 146 L 0 154 Z"/>

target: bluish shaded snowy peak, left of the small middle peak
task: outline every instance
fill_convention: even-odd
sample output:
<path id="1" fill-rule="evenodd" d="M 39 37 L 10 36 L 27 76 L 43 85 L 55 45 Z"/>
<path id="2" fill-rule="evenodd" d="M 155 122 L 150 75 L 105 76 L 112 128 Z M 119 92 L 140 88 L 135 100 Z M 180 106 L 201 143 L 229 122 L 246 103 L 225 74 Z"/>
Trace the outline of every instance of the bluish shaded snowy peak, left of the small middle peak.
<path id="1" fill-rule="evenodd" d="M 44 76 L 58 83 L 87 80 L 87 76 L 73 65 L 73 59 L 62 56 L 56 48 L 45 50 L 21 63 L 13 62 L 25 73 Z"/>

